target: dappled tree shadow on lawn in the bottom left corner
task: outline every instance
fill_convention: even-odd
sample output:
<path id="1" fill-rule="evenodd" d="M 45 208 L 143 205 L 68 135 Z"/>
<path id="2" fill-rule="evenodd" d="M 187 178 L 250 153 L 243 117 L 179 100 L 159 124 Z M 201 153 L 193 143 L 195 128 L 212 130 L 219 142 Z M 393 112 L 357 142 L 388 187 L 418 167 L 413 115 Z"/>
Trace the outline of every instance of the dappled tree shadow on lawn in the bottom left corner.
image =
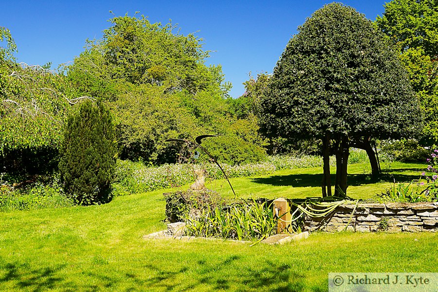
<path id="1" fill-rule="evenodd" d="M 8 263 L 1 270 L 6 270 L 6 274 L 0 276 L 0 284 L 14 282 L 18 290 L 47 291 L 56 288 L 58 282 L 64 279 L 57 273 L 64 269 L 66 265 L 58 265 L 55 268 L 46 267 L 31 270 L 26 264 Z"/>

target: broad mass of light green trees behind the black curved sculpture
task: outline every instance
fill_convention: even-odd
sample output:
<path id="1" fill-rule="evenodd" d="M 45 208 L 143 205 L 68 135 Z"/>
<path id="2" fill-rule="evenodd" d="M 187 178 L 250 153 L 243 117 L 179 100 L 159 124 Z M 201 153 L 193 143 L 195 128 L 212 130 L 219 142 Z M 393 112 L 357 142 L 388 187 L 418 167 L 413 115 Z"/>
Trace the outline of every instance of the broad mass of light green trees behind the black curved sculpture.
<path id="1" fill-rule="evenodd" d="M 255 156 L 247 155 L 244 161 L 260 159 L 263 142 L 256 122 L 241 120 L 229 110 L 231 84 L 224 82 L 220 65 L 204 64 L 209 52 L 202 50 L 201 38 L 183 36 L 171 23 L 150 23 L 143 16 L 110 22 L 102 39 L 88 41 L 67 73 L 81 94 L 108 103 L 118 125 L 121 158 L 173 163 L 180 146 L 166 139 L 214 133 L 244 141 L 238 152 L 256 142 L 251 149 Z M 219 160 L 230 163 L 236 148 L 217 153 Z"/>

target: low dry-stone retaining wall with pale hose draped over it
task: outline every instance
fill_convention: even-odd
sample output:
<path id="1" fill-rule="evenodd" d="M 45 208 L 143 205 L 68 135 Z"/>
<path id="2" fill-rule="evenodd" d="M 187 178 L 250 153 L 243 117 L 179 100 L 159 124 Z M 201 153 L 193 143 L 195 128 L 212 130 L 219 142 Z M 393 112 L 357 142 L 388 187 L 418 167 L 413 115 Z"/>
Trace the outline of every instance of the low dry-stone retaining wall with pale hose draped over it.
<path id="1" fill-rule="evenodd" d="M 305 231 L 438 232 L 438 203 L 369 203 L 341 205 L 325 218 L 304 220 Z M 348 223 L 348 226 L 347 226 Z"/>

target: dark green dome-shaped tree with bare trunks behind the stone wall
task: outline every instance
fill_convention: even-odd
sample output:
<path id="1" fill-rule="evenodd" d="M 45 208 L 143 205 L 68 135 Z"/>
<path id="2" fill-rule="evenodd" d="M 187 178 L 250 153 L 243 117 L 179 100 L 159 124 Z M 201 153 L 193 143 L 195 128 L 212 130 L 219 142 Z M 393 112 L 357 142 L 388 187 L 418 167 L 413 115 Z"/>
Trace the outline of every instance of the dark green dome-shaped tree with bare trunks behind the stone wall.
<path id="1" fill-rule="evenodd" d="M 330 151 L 335 194 L 346 193 L 349 147 L 411 135 L 421 126 L 418 102 L 386 38 L 353 8 L 328 4 L 298 31 L 274 68 L 260 122 L 273 136 L 321 140 L 323 196 L 331 194 Z"/>

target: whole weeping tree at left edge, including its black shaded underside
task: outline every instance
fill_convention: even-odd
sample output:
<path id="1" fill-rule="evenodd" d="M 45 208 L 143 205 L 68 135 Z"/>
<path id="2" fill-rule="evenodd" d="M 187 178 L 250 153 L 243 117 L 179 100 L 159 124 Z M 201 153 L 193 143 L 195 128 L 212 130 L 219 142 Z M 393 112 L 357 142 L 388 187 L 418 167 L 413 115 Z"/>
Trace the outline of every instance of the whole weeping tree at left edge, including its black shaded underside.
<path id="1" fill-rule="evenodd" d="M 74 96 L 65 76 L 16 63 L 17 46 L 0 27 L 0 166 L 22 175 L 57 167 L 62 124 Z"/>

